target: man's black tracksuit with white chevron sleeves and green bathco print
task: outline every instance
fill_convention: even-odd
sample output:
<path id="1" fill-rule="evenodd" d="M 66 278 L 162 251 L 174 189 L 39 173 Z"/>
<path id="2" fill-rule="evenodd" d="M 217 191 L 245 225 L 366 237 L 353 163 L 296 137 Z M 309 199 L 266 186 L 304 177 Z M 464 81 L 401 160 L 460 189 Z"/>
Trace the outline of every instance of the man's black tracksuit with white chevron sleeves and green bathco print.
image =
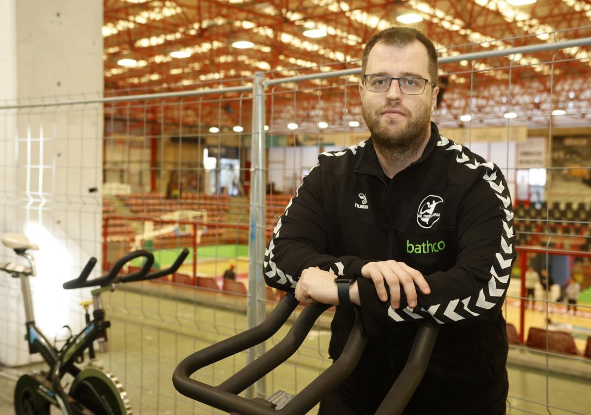
<path id="1" fill-rule="evenodd" d="M 513 213 L 504 176 L 439 135 L 421 158 L 385 176 L 371 138 L 319 155 L 273 231 L 265 281 L 290 290 L 307 267 L 358 278 L 369 340 L 339 387 L 359 413 L 373 413 L 400 374 L 424 318 L 441 324 L 431 359 L 405 413 L 499 413 L 505 407 L 507 339 L 501 307 L 515 260 Z M 396 260 L 423 273 L 397 310 L 362 278 L 369 261 Z M 329 354 L 339 357 L 354 321 L 337 307 Z"/>

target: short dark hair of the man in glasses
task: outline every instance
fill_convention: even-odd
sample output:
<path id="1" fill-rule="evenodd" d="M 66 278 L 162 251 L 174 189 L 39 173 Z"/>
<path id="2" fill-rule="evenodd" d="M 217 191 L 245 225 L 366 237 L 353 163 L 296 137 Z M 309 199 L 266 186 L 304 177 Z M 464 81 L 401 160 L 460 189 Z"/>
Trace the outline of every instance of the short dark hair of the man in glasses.
<path id="1" fill-rule="evenodd" d="M 363 61 L 361 65 L 361 74 L 365 75 L 365 67 L 368 64 L 369 52 L 378 43 L 384 43 L 389 46 L 405 47 L 419 41 L 427 48 L 427 56 L 429 57 L 429 76 L 430 81 L 437 86 L 437 51 L 433 42 L 426 35 L 418 29 L 408 26 L 392 26 L 381 32 L 376 33 L 365 45 L 363 50 Z"/>

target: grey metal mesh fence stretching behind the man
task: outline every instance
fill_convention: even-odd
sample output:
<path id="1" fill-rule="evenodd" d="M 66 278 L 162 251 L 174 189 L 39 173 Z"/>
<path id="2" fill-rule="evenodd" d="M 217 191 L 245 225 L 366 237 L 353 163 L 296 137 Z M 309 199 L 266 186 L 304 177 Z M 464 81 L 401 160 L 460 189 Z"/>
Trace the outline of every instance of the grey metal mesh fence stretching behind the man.
<path id="1" fill-rule="evenodd" d="M 580 79 L 569 76 L 573 66 L 588 70 L 589 42 L 498 42 L 506 50 L 440 48 L 443 99 L 434 121 L 442 135 L 502 167 L 512 194 L 519 257 L 504 306 L 508 407 L 588 413 L 589 395 L 570 390 L 591 378 L 591 298 L 574 311 L 564 300 L 569 280 L 583 289 L 591 284 L 590 138 L 573 128 L 588 127 L 589 96 L 573 96 Z M 82 328 L 77 303 L 88 292 L 60 286 L 90 255 L 105 271 L 131 249 L 146 248 L 161 268 L 190 248 L 174 275 L 103 295 L 112 326 L 109 352 L 99 358 L 137 413 L 215 413 L 176 393 L 171 373 L 191 352 L 260 322 L 281 297 L 264 287 L 261 246 L 317 155 L 368 137 L 359 73 L 359 63 L 335 64 L 191 91 L 0 108 L 0 232 L 25 229 L 40 245 L 34 303 L 47 336 L 63 338 L 66 323 Z M 532 73 L 543 80 L 524 81 Z M 0 252 L 1 260 L 14 260 Z M 533 300 L 526 296 L 528 265 L 553 278 L 535 284 Z M 6 361 L 28 364 L 34 359 L 22 342 L 15 282 L 0 278 L 0 349 Z M 297 393 L 330 365 L 330 313 L 258 384 L 258 395 Z M 195 377 L 219 384 L 261 351 Z"/>

